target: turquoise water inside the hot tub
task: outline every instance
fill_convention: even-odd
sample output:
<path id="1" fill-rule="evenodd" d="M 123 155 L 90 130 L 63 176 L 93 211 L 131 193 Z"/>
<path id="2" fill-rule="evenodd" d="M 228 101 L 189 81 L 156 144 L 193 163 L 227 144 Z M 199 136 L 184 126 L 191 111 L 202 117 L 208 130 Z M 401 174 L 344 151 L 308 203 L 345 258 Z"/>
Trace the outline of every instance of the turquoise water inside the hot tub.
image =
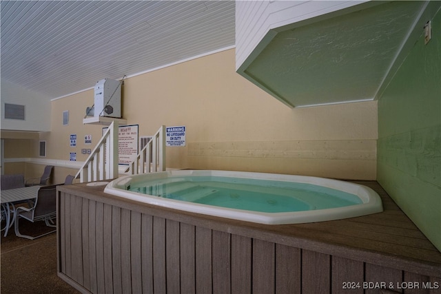
<path id="1" fill-rule="evenodd" d="M 296 182 L 185 176 L 131 185 L 128 191 L 162 198 L 260 212 L 329 209 L 360 204 L 358 196 Z"/>

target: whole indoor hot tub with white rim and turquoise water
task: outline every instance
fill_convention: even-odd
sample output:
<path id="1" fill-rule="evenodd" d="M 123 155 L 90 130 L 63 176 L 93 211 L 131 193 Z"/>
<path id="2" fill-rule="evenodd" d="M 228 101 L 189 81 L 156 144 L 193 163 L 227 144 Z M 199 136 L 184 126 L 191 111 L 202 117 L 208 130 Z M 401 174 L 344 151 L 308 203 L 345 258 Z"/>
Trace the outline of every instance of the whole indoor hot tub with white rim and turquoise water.
<path id="1" fill-rule="evenodd" d="M 260 224 L 299 224 L 382 211 L 378 194 L 341 180 L 243 171 L 124 176 L 105 193 L 160 207 Z"/>

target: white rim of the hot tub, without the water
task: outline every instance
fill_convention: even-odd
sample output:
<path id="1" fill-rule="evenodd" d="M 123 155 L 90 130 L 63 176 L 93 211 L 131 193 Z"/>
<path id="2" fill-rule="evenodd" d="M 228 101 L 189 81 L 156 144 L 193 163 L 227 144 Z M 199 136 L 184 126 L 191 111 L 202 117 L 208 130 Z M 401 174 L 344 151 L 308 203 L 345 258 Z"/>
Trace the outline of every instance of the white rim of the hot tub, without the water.
<path id="1" fill-rule="evenodd" d="M 225 207 L 215 207 L 207 204 L 184 202 L 168 198 L 160 198 L 144 193 L 127 191 L 127 187 L 134 183 L 145 182 L 147 180 L 158 180 L 161 178 L 181 177 L 181 176 L 218 176 L 227 178 L 248 178 L 257 180 L 276 180 L 280 182 L 301 182 L 305 184 L 317 185 L 345 191 L 360 198 L 362 204 L 332 209 L 318 209 L 309 211 L 293 211 L 279 213 L 265 213 L 258 211 L 245 211 L 241 209 L 229 209 Z M 307 222 L 324 222 L 327 220 L 341 220 L 344 218 L 355 218 L 371 213 L 382 212 L 382 202 L 380 196 L 371 188 L 358 185 L 353 182 L 334 180 L 329 178 L 317 178 L 311 176 L 294 176 L 285 174 L 265 174 L 246 171 L 201 171 L 201 170 L 178 170 L 160 171 L 150 174 L 139 174 L 136 176 L 123 176 L 110 182 L 104 189 L 105 193 L 120 196 L 130 200 L 153 204 L 159 207 L 178 209 L 192 213 L 201 213 L 209 216 L 221 218 L 231 218 L 246 222 L 256 222 L 259 224 L 301 224 Z"/>

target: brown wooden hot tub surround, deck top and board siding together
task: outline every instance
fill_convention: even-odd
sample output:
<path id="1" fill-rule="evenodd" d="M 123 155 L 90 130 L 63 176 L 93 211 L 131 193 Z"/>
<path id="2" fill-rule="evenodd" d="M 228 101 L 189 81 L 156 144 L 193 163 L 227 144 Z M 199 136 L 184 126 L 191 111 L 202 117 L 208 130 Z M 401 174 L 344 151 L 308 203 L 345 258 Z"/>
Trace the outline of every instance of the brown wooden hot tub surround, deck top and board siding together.
<path id="1" fill-rule="evenodd" d="M 440 293 L 440 251 L 378 182 L 356 183 L 384 212 L 286 225 L 59 186 L 58 274 L 83 293 Z"/>

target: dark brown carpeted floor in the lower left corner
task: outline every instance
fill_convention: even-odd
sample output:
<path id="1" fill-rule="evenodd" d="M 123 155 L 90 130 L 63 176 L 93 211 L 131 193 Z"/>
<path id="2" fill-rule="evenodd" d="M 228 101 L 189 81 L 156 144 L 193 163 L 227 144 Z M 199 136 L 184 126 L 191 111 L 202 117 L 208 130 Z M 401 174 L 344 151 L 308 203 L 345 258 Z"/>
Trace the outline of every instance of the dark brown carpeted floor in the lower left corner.
<path id="1" fill-rule="evenodd" d="M 49 230 L 48 230 L 49 229 Z M 20 221 L 20 232 L 38 235 L 52 228 L 44 222 Z M 57 234 L 35 240 L 18 238 L 14 227 L 1 231 L 1 294 L 79 293 L 57 276 Z"/>

